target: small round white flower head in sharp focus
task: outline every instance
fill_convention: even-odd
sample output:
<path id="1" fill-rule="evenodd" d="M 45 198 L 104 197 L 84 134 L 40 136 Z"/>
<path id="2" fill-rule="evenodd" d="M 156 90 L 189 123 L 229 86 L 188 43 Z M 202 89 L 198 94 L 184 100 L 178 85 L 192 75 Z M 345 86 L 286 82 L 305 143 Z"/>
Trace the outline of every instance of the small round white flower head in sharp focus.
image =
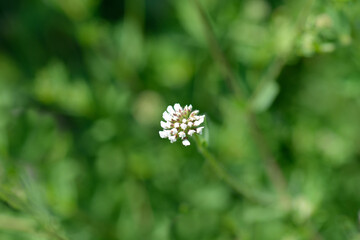
<path id="1" fill-rule="evenodd" d="M 163 113 L 166 122 L 160 122 L 161 127 L 164 129 L 159 131 L 160 137 L 168 138 L 171 143 L 180 138 L 184 146 L 189 146 L 188 136 L 201 134 L 204 128 L 200 127 L 200 125 L 204 122 L 205 115 L 198 116 L 198 113 L 198 110 L 192 111 L 191 105 L 186 105 L 184 108 L 178 103 L 174 107 L 168 106 Z"/>

